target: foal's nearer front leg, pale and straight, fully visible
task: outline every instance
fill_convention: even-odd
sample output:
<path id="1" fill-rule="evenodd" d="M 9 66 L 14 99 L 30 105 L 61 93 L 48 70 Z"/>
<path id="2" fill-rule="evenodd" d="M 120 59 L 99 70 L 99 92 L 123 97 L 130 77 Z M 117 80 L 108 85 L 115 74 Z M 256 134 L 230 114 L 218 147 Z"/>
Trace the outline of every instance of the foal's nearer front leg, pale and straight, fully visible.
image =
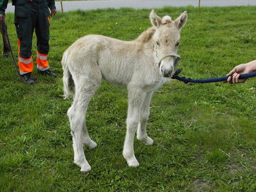
<path id="1" fill-rule="evenodd" d="M 129 106 L 126 122 L 126 137 L 123 146 L 123 156 L 130 167 L 138 167 L 140 165 L 134 155 L 133 142 L 140 121 L 140 112 L 145 96 L 145 92 L 128 90 Z"/>

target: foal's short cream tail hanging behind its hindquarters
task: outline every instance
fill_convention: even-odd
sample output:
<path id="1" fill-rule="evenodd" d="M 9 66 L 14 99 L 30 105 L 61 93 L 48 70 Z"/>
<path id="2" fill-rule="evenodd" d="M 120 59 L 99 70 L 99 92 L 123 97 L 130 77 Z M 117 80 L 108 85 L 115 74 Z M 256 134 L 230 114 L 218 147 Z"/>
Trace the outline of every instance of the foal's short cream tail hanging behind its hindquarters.
<path id="1" fill-rule="evenodd" d="M 73 96 L 75 92 L 75 84 L 72 79 L 72 75 L 68 68 L 69 62 L 69 51 L 65 51 L 62 57 L 62 69 L 63 69 L 63 88 L 64 88 L 64 99 L 68 98 L 69 96 Z"/>

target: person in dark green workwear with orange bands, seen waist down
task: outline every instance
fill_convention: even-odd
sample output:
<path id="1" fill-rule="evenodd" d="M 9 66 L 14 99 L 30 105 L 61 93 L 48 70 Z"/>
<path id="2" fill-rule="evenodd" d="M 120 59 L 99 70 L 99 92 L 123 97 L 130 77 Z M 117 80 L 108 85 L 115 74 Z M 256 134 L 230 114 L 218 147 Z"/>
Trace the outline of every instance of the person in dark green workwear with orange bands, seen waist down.
<path id="1" fill-rule="evenodd" d="M 8 0 L 0 0 L 0 21 L 5 20 L 5 9 Z M 25 84 L 34 84 L 36 77 L 31 77 L 33 71 L 32 37 L 34 30 L 37 36 L 37 71 L 41 75 L 56 77 L 50 71 L 47 60 L 49 52 L 49 22 L 51 15 L 56 14 L 54 0 L 12 0 L 14 24 L 18 36 L 18 65 L 20 75 Z"/>

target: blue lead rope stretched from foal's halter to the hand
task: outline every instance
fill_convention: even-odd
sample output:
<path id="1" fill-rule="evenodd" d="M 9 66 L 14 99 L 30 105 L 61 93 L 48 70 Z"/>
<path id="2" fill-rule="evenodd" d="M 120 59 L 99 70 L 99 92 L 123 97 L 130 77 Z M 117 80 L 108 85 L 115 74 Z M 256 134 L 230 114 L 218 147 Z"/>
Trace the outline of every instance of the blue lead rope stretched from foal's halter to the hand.
<path id="1" fill-rule="evenodd" d="M 172 79 L 177 79 L 179 81 L 183 81 L 184 83 L 213 83 L 213 82 L 219 82 L 219 81 L 226 81 L 228 79 L 228 76 L 216 77 L 216 78 L 210 78 L 210 79 L 191 79 L 186 77 L 180 77 L 179 74 L 181 71 L 182 69 L 178 69 L 177 71 L 175 71 L 174 75 L 172 76 Z M 255 76 L 256 76 L 256 71 L 252 73 L 241 74 L 239 76 L 239 79 L 245 79 L 245 78 L 255 77 Z"/>

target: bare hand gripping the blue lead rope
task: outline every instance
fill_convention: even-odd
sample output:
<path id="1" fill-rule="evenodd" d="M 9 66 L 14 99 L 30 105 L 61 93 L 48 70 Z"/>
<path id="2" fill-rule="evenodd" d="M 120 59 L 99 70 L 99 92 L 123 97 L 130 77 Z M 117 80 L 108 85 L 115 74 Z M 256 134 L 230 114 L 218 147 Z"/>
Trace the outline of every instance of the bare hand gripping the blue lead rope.
<path id="1" fill-rule="evenodd" d="M 235 66 L 234 69 L 232 69 L 227 76 L 228 80 L 227 82 L 229 82 L 230 84 L 233 83 L 243 83 L 245 82 L 247 79 L 239 79 L 240 74 L 244 74 L 244 73 L 251 73 L 256 71 L 256 60 L 253 60 L 249 63 L 245 63 L 245 64 L 240 64 Z M 233 77 L 231 77 L 233 76 Z"/>

